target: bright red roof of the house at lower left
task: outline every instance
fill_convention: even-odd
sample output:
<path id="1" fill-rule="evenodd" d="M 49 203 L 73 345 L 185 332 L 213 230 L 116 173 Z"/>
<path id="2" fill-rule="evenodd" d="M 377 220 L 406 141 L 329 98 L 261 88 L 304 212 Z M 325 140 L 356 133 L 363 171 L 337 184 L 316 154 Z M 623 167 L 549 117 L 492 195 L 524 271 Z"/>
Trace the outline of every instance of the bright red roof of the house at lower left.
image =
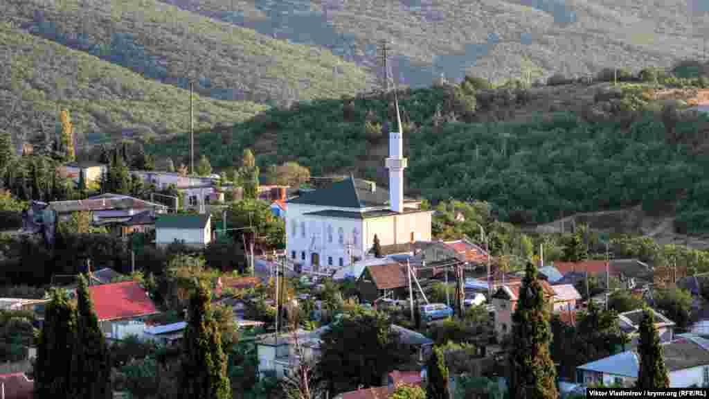
<path id="1" fill-rule="evenodd" d="M 89 287 L 91 301 L 99 321 L 130 319 L 157 313 L 143 287 L 135 281 Z"/>

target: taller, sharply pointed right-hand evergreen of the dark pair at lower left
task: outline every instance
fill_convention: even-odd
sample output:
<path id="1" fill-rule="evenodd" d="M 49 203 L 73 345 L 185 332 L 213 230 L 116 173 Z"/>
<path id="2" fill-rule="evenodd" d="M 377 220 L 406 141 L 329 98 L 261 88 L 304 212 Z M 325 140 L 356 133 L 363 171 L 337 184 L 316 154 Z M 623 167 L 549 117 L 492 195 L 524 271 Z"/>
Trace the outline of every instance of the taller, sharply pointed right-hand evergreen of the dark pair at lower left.
<path id="1" fill-rule="evenodd" d="M 89 297 L 89 283 L 86 276 L 79 276 L 77 288 L 77 343 L 74 346 L 72 375 L 76 386 L 77 399 L 108 399 L 111 390 L 111 362 L 108 358 L 108 344 L 99 328 L 99 319 L 94 313 L 94 305 Z"/>

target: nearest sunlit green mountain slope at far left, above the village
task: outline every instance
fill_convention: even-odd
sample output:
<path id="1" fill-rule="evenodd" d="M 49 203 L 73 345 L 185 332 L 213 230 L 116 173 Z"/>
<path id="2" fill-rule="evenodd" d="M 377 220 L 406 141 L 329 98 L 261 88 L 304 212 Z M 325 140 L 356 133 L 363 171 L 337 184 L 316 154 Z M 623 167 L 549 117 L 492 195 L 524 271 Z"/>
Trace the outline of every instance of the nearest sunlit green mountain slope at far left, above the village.
<path id="1" fill-rule="evenodd" d="M 0 23 L 0 129 L 17 137 L 53 132 L 60 109 L 79 143 L 113 132 L 166 134 L 189 129 L 189 92 Z M 266 106 L 194 96 L 195 126 L 254 116 Z M 14 110 L 11 112 L 11 110 Z M 40 124 L 44 123 L 44 128 Z"/>

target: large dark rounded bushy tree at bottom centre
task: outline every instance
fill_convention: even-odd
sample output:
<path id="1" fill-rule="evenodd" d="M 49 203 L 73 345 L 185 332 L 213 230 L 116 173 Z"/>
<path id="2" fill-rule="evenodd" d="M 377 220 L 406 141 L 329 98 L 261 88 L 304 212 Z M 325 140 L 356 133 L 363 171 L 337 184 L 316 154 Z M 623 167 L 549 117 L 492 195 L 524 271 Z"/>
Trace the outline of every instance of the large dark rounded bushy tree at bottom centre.
<path id="1" fill-rule="evenodd" d="M 330 391 L 379 386 L 400 353 L 391 321 L 381 313 L 345 314 L 320 338 L 320 371 Z"/>

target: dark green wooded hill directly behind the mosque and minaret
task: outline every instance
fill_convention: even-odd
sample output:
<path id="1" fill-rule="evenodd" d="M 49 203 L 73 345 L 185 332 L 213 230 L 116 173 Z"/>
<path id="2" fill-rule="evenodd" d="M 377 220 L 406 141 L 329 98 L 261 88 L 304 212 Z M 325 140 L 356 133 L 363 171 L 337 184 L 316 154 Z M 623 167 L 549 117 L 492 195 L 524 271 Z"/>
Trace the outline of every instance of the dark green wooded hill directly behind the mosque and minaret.
<path id="1" fill-rule="evenodd" d="M 474 116 L 467 115 L 473 94 L 466 88 L 402 91 L 409 190 L 433 201 L 487 200 L 500 219 L 520 224 L 642 204 L 648 212 L 676 213 L 681 230 L 709 230 L 707 119 L 687 114 L 664 123 L 651 111 L 657 106 L 635 97 L 630 85 L 624 99 L 608 102 L 614 114 L 601 118 L 592 109 L 608 106 L 594 92 L 606 86 L 501 89 L 499 100 L 479 91 Z M 386 183 L 387 138 L 378 125 L 383 109 L 376 97 L 273 109 L 231 129 L 201 133 L 198 147 L 218 168 L 253 147 L 262 166 L 296 160 L 313 175 L 357 170 Z M 184 153 L 186 144 L 176 136 L 150 151 Z"/>

